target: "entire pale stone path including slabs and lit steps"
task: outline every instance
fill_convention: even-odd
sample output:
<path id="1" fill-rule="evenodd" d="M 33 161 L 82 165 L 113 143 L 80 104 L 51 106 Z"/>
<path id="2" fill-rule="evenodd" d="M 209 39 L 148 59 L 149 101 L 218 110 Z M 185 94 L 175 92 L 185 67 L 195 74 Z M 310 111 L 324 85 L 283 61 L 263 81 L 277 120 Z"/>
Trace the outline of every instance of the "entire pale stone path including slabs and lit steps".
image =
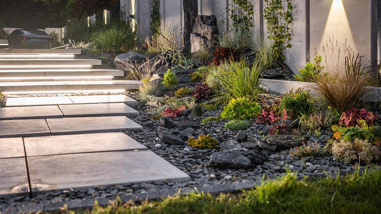
<path id="1" fill-rule="evenodd" d="M 141 83 L 86 80 L 98 78 L 102 69 L 78 70 L 77 67 L 54 72 L 54 66 L 65 62 L 72 63 L 67 66 L 80 68 L 81 62 L 99 64 L 96 60 L 73 59 L 79 53 L 78 50 L 0 49 L 0 88 L 5 94 L 11 91 L 32 94 L 36 90 L 37 93 L 124 91 L 136 89 Z M 5 65 L 13 65 L 14 72 L 5 70 Z M 22 70 L 24 65 L 43 69 Z M 50 70 L 44 70 L 45 67 Z M 81 74 L 75 75 L 76 72 Z M 104 75 L 120 73 L 112 69 L 104 72 Z M 82 81 L 42 81 L 48 73 L 53 79 L 54 74 L 58 79 L 70 74 L 68 79 Z M 25 78 L 34 81 L 19 81 L 28 74 Z M 0 196 L 33 196 L 40 191 L 189 179 L 180 169 L 122 132 L 142 128 L 128 118 L 139 115 L 128 106 L 133 103 L 136 101 L 123 94 L 8 98 L 6 107 L 0 108 L 0 151 L 6 151 L 0 152 Z"/>

